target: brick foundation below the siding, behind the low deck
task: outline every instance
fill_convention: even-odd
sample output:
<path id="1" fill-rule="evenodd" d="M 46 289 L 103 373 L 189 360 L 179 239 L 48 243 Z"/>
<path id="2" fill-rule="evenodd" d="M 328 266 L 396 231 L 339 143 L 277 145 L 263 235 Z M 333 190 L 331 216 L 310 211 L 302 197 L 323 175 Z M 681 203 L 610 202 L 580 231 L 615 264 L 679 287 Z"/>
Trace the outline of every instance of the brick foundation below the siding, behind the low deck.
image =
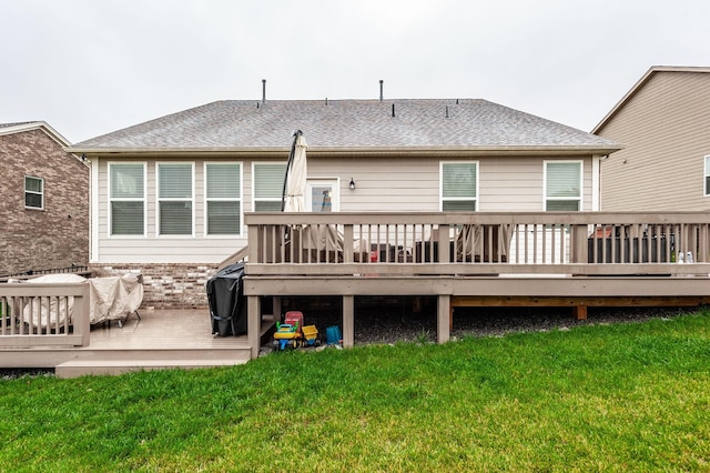
<path id="1" fill-rule="evenodd" d="M 216 273 L 211 264 L 91 264 L 94 276 L 143 275 L 143 304 L 155 309 L 206 309 L 205 283 Z"/>

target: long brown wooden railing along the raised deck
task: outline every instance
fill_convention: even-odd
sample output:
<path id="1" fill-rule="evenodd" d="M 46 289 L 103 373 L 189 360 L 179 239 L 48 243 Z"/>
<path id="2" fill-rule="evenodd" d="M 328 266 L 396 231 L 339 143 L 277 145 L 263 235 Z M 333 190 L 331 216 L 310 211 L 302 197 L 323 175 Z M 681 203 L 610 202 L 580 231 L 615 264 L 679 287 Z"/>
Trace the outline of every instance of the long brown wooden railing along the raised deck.
<path id="1" fill-rule="evenodd" d="M 248 213 L 245 221 L 252 275 L 710 273 L 707 212 Z"/>

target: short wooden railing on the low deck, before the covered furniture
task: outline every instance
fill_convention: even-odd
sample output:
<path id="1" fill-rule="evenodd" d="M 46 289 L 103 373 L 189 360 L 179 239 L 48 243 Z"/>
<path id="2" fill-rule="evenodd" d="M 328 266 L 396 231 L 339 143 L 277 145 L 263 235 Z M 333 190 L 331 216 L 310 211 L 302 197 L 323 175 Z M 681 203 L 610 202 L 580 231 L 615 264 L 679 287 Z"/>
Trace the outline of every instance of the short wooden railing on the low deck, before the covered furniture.
<path id="1" fill-rule="evenodd" d="M 89 284 L 0 284 L 0 348 L 89 344 Z"/>

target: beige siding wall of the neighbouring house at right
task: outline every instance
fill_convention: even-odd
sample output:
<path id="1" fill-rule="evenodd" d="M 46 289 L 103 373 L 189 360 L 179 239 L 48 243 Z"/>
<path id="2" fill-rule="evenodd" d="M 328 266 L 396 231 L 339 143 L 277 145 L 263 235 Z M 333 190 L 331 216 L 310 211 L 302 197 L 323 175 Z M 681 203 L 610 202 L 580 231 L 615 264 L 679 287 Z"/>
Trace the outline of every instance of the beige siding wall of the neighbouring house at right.
<path id="1" fill-rule="evenodd" d="M 597 134 L 625 144 L 601 163 L 602 211 L 706 210 L 710 73 L 659 71 Z"/>

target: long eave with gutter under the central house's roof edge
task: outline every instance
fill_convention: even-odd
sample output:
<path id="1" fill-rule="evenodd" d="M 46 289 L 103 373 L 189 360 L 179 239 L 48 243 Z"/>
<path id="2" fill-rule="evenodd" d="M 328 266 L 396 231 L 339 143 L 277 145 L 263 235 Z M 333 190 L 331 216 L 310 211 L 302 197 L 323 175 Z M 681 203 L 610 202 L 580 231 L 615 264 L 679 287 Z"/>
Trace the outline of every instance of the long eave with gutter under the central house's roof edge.
<path id="1" fill-rule="evenodd" d="M 610 154 L 620 145 L 485 145 L 485 147 L 310 147 L 308 155 L 317 157 L 539 157 L 539 155 L 588 155 Z M 77 148 L 67 151 L 90 158 L 187 158 L 187 157 L 239 157 L 283 158 L 290 149 L 284 147 L 220 147 L 220 148 Z"/>

